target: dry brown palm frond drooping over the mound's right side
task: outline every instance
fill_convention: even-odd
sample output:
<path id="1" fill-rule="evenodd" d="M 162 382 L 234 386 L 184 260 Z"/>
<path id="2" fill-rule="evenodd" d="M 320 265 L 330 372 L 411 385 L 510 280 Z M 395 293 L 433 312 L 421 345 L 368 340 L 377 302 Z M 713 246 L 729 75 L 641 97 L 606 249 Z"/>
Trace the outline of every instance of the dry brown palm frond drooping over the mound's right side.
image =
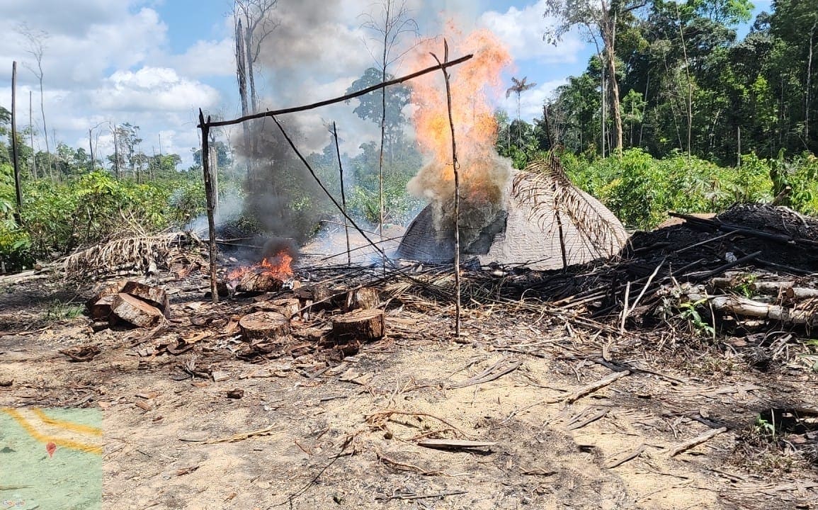
<path id="1" fill-rule="evenodd" d="M 566 265 L 566 252 L 571 248 L 601 258 L 616 253 L 627 240 L 613 214 L 571 183 L 557 156 L 551 154 L 549 160 L 535 161 L 525 170 L 515 177 L 512 190 L 519 200 L 531 205 L 529 219 L 536 219 L 544 231 L 559 230 Z M 565 227 L 569 224 L 576 230 L 575 235 L 567 234 Z"/>

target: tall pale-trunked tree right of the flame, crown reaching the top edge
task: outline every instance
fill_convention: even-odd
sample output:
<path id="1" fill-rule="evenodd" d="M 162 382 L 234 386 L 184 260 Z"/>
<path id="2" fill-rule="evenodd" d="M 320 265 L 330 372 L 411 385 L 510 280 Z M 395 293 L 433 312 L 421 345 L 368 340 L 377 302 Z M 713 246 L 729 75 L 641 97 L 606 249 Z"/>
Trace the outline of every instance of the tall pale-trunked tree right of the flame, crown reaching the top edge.
<path id="1" fill-rule="evenodd" d="M 648 0 L 546 0 L 545 16 L 556 20 L 556 25 L 546 31 L 546 40 L 557 43 L 570 29 L 579 26 L 587 31 L 587 35 L 596 44 L 600 58 L 604 56 L 616 135 L 614 148 L 619 154 L 622 153 L 622 113 L 619 108 L 616 67 L 617 27 L 623 16 L 645 7 L 647 3 Z"/>

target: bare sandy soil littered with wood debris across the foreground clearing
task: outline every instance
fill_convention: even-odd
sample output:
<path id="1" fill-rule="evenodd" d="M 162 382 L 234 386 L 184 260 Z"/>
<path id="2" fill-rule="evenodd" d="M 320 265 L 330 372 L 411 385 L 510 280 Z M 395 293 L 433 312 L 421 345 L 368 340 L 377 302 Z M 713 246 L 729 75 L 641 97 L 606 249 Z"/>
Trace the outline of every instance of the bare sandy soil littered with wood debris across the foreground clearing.
<path id="1" fill-rule="evenodd" d="M 815 465 L 753 427 L 767 408 L 816 408 L 802 367 L 491 306 L 465 310 L 457 341 L 452 309 L 402 305 L 342 361 L 299 350 L 306 334 L 239 359 L 236 321 L 257 300 L 168 282 L 164 327 L 95 332 L 58 318 L 91 295 L 64 287 L 0 288 L 0 406 L 101 408 L 104 508 L 818 508 Z M 83 345 L 100 354 L 59 352 Z"/>

